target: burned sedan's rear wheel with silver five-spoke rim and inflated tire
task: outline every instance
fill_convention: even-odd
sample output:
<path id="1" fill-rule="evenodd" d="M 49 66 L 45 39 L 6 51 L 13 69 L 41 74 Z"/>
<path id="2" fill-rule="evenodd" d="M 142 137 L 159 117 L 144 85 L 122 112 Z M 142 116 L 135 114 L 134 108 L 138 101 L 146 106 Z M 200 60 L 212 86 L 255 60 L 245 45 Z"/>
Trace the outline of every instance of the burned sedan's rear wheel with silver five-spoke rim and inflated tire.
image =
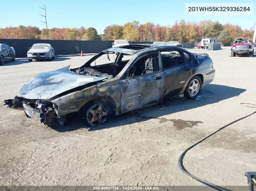
<path id="1" fill-rule="evenodd" d="M 198 97 L 202 89 L 202 80 L 199 76 L 192 77 L 185 89 L 184 96 L 188 100 L 193 100 Z"/>

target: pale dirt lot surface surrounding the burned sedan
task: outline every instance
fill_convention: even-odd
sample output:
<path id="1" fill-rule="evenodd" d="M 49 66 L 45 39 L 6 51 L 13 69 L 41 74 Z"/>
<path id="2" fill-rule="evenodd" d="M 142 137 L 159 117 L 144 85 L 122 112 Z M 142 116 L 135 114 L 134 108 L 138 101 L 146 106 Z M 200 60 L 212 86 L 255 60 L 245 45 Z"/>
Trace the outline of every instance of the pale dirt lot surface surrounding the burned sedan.
<path id="1" fill-rule="evenodd" d="M 109 117 L 88 128 L 77 120 L 50 128 L 23 110 L 0 105 L 0 185 L 202 185 L 178 168 L 180 154 L 220 126 L 255 111 L 256 55 L 230 57 L 230 48 L 208 53 L 216 75 L 195 100 Z M 0 100 L 13 98 L 32 77 L 92 56 L 54 61 L 16 59 L 0 66 Z M 185 168 L 218 185 L 247 185 L 255 171 L 256 114 L 239 121 L 189 151 Z"/>

